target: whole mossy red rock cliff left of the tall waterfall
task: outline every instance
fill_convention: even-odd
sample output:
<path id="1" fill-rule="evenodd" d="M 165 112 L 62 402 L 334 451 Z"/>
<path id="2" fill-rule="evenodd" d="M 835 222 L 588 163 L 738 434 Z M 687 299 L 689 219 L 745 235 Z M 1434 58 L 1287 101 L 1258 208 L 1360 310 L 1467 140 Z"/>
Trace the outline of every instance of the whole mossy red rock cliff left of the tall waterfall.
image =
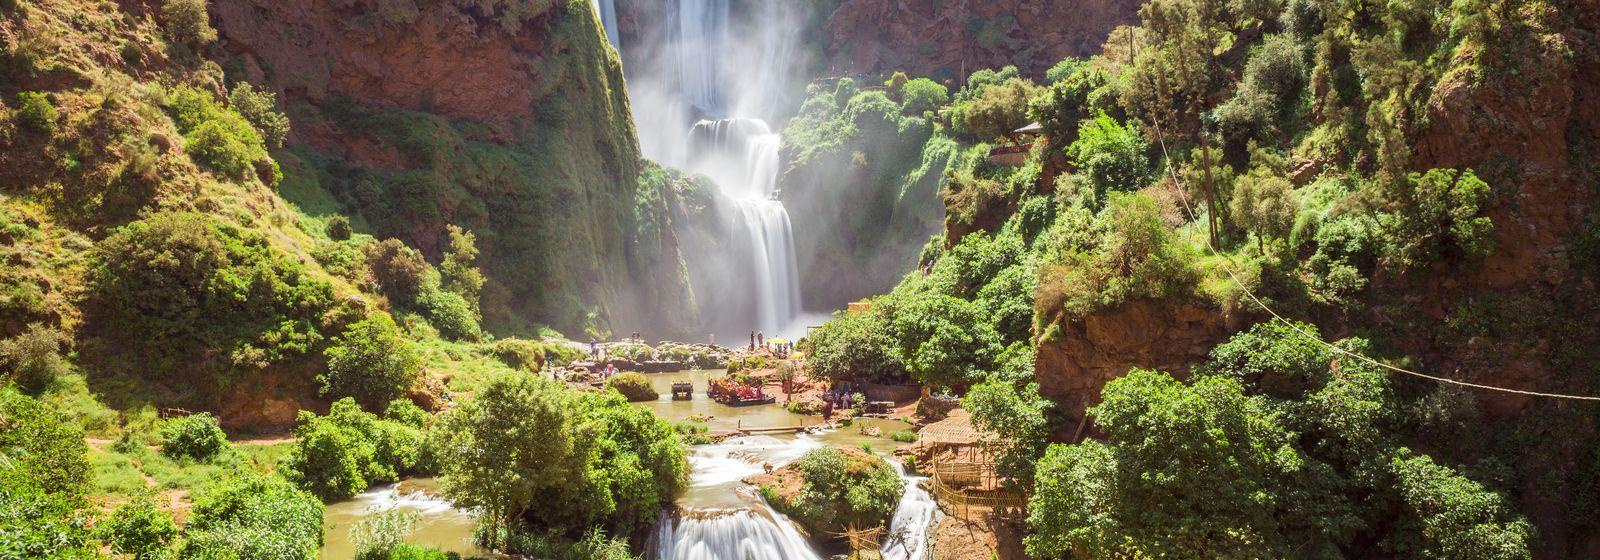
<path id="1" fill-rule="evenodd" d="M 437 251 L 475 230 L 496 330 L 654 330 L 686 299 L 675 269 L 634 254 L 638 142 L 622 69 L 592 5 L 224 0 L 208 54 L 264 83 L 294 131 L 283 194 Z M 630 270 L 634 274 L 630 274 Z M 635 277 L 635 274 L 638 277 Z M 650 285 L 650 291 L 635 291 Z M 664 318 L 666 317 L 666 318 Z"/>

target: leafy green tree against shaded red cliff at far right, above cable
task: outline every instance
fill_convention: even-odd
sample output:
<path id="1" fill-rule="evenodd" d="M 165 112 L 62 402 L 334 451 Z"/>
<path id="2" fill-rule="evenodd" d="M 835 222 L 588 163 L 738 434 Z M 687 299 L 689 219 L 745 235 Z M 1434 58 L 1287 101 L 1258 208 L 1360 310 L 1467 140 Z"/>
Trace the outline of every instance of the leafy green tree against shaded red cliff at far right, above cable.
<path id="1" fill-rule="evenodd" d="M 1494 224 L 1483 216 L 1490 186 L 1472 170 L 1413 173 L 1381 216 L 1386 253 L 1402 269 L 1440 258 L 1480 259 L 1494 250 Z"/>

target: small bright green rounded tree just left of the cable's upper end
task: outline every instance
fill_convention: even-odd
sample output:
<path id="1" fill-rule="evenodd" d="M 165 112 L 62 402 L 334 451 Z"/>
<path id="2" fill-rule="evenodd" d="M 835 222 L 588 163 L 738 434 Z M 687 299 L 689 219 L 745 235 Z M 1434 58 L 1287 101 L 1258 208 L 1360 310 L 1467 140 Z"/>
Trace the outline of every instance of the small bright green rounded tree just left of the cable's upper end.
<path id="1" fill-rule="evenodd" d="M 1123 126 L 1104 112 L 1078 126 L 1078 138 L 1067 147 L 1072 165 L 1090 178 L 1099 194 L 1138 190 L 1150 178 L 1150 144 L 1133 126 Z"/>

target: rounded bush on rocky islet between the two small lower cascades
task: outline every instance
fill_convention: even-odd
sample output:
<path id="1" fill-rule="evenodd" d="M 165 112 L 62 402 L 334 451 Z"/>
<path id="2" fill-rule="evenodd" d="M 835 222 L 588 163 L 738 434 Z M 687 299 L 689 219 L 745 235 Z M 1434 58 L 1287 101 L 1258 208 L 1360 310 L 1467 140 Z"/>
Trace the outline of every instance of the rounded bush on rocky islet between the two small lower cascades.
<path id="1" fill-rule="evenodd" d="M 798 494 L 779 498 L 773 506 L 813 531 L 886 526 L 906 491 L 888 461 L 859 450 L 813 450 L 794 467 L 805 485 Z"/>

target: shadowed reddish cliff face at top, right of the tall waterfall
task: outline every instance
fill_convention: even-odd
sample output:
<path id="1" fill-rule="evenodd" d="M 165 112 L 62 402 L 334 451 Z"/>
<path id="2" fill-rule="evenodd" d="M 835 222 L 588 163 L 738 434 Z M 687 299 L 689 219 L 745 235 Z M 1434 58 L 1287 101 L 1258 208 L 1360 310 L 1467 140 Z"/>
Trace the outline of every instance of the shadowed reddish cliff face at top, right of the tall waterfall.
<path id="1" fill-rule="evenodd" d="M 966 75 L 1016 64 L 1040 75 L 1099 51 L 1139 0 L 843 0 L 826 24 L 834 72 Z"/>

